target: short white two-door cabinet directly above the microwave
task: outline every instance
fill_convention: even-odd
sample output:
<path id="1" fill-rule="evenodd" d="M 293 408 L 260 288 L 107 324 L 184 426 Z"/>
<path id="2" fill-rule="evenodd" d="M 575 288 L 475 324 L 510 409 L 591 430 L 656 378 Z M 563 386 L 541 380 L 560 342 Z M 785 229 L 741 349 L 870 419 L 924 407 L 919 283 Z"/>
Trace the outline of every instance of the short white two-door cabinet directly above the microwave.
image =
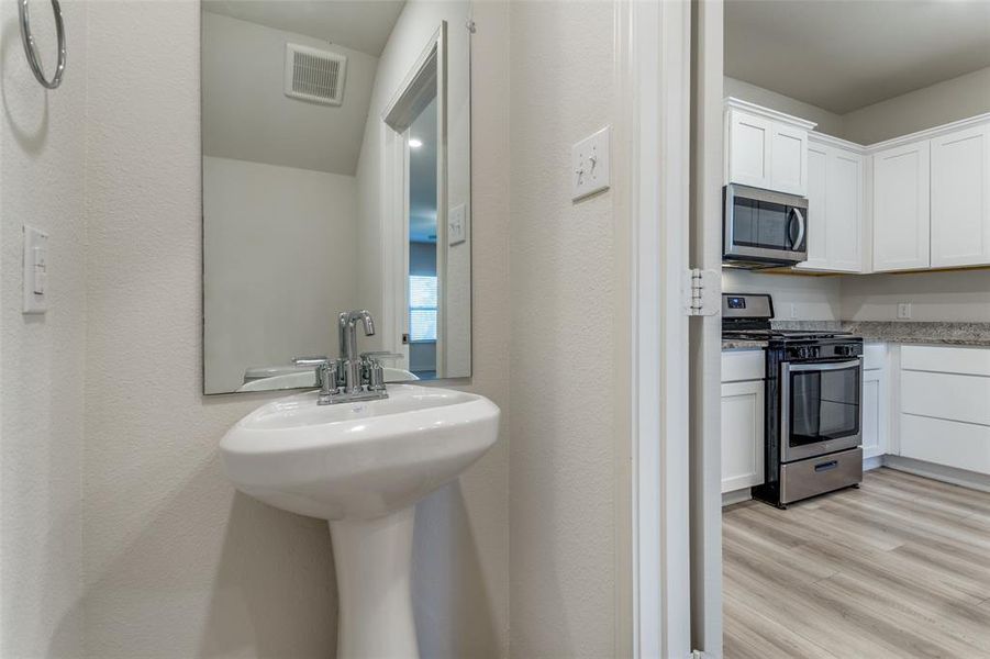
<path id="1" fill-rule="evenodd" d="M 804 196 L 814 123 L 737 99 L 726 101 L 725 182 Z"/>

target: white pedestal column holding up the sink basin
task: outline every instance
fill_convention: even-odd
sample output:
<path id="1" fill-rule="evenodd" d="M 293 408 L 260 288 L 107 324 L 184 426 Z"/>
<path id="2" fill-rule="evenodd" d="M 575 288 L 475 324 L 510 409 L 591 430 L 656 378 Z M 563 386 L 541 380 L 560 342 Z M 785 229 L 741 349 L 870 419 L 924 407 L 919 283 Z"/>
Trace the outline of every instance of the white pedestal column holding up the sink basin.
<path id="1" fill-rule="evenodd" d="M 337 659 L 418 659 L 410 567 L 415 506 L 330 523 L 337 574 Z"/>

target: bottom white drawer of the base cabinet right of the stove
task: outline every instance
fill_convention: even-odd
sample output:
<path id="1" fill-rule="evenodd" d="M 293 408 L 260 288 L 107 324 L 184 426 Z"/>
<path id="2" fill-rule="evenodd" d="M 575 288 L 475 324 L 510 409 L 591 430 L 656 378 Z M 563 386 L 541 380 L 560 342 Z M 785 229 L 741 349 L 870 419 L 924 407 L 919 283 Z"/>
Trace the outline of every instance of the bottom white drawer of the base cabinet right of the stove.
<path id="1" fill-rule="evenodd" d="M 902 414 L 901 455 L 990 473 L 990 427 Z"/>

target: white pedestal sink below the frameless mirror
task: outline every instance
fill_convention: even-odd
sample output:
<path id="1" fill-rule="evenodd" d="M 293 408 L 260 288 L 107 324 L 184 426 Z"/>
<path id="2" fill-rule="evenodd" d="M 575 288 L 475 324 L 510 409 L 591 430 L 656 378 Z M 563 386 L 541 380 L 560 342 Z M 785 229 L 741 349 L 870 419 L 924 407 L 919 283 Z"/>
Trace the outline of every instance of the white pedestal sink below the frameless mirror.
<path id="1" fill-rule="evenodd" d="M 449 389 L 318 405 L 316 392 L 241 420 L 220 450 L 234 485 L 330 522 L 340 590 L 337 659 L 419 657 L 410 595 L 415 503 L 491 448 L 499 409 Z"/>

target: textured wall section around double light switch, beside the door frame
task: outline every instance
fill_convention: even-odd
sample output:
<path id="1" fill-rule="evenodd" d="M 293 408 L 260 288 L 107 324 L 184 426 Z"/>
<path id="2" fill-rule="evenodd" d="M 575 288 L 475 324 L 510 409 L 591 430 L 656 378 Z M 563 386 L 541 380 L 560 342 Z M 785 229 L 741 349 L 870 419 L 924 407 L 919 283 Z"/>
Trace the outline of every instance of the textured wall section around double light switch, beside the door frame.
<path id="1" fill-rule="evenodd" d="M 619 220 L 570 200 L 570 145 L 614 121 L 613 11 L 510 3 L 513 657 L 615 649 Z"/>

